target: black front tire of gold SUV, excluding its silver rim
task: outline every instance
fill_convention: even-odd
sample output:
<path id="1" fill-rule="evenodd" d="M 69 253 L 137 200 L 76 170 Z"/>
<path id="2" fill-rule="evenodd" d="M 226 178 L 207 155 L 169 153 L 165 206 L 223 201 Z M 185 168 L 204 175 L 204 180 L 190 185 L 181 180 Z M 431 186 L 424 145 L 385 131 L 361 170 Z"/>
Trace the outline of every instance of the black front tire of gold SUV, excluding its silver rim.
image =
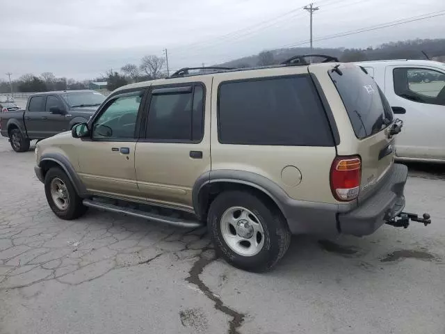
<path id="1" fill-rule="evenodd" d="M 65 184 L 67 190 L 67 198 L 68 204 L 66 209 L 60 209 L 58 205 L 54 202 L 54 199 L 51 196 L 51 182 L 54 179 L 59 179 Z M 82 199 L 77 195 L 74 186 L 72 185 L 70 178 L 65 174 L 65 172 L 58 168 L 53 167 L 50 168 L 47 172 L 47 175 L 44 177 L 44 193 L 47 196 L 47 201 L 51 210 L 53 210 L 54 214 L 59 218 L 65 220 L 72 220 L 75 218 L 79 218 L 85 214 L 88 207 L 82 204 Z"/>

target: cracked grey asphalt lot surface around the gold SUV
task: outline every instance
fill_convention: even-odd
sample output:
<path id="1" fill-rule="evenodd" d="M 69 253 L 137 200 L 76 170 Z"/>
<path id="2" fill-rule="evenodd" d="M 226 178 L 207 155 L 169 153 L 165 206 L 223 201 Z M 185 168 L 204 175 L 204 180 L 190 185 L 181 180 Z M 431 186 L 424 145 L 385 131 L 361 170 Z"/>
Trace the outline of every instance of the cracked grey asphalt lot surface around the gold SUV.
<path id="1" fill-rule="evenodd" d="M 270 273 L 217 259 L 205 229 L 90 209 L 63 221 L 32 150 L 0 138 L 0 333 L 445 333 L 445 166 L 410 165 L 428 228 L 293 237 Z"/>

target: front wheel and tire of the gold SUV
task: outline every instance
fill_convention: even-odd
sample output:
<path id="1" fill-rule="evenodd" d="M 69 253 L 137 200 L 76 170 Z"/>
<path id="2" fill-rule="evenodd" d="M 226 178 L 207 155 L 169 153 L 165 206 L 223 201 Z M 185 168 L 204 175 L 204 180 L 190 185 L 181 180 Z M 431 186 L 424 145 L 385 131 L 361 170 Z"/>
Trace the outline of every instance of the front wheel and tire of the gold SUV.
<path id="1" fill-rule="evenodd" d="M 59 218 L 72 220 L 85 214 L 87 207 L 77 195 L 70 178 L 58 167 L 50 168 L 44 177 L 44 192 L 49 207 Z"/>

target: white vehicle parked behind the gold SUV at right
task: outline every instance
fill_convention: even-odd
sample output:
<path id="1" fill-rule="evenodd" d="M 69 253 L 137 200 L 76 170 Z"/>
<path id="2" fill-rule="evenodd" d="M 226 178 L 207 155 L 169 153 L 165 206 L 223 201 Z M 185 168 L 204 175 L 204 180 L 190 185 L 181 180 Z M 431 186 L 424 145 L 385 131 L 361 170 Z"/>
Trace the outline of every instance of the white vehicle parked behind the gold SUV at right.
<path id="1" fill-rule="evenodd" d="M 437 61 L 364 61 L 385 93 L 403 130 L 396 139 L 401 160 L 445 162 L 445 64 Z"/>

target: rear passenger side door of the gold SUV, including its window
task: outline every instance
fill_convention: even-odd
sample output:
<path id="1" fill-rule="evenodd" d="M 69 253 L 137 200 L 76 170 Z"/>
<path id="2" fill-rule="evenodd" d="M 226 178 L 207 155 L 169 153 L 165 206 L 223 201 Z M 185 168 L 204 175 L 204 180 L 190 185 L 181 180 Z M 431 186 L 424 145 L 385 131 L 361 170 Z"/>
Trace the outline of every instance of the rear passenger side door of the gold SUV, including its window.
<path id="1" fill-rule="evenodd" d="M 211 77 L 152 86 L 145 133 L 136 145 L 136 177 L 146 200 L 191 209 L 192 190 L 210 170 Z"/>

